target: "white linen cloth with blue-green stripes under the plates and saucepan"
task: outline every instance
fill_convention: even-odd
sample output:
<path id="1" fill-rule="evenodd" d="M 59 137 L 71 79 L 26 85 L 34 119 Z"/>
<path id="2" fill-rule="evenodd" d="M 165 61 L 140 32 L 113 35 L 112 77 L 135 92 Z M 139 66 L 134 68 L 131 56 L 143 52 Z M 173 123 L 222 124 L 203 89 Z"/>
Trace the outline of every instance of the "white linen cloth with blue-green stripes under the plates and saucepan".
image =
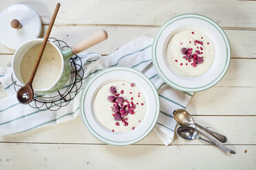
<path id="1" fill-rule="evenodd" d="M 169 145 L 173 141 L 176 126 L 173 110 L 186 108 L 193 94 L 175 90 L 164 84 L 153 68 L 151 43 L 152 38 L 138 38 L 105 57 L 101 57 L 98 53 L 80 53 L 78 56 L 81 57 L 85 70 L 83 86 L 95 73 L 109 66 L 128 66 L 145 73 L 158 89 L 160 97 L 160 117 L 154 131 L 165 145 Z M 0 100 L 0 135 L 57 125 L 80 116 L 79 100 L 82 89 L 69 105 L 60 110 L 55 112 L 39 111 L 28 105 L 19 104 L 11 74 L 10 67 L 0 66 L 0 82 L 9 94 L 8 97 Z"/>

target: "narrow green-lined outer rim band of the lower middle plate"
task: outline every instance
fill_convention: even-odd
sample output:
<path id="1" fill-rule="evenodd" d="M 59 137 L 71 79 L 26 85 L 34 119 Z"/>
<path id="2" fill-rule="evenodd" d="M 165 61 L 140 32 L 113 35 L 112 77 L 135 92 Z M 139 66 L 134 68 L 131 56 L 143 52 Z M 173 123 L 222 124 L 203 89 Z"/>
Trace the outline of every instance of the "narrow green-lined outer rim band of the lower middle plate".
<path id="1" fill-rule="evenodd" d="M 114 68 L 114 69 L 113 69 Z M 110 70 L 110 71 L 108 71 Z M 149 128 L 143 133 L 141 134 L 140 136 L 138 136 L 137 138 L 134 138 L 132 140 L 129 140 L 129 141 L 112 141 L 112 140 L 109 140 L 103 136 L 100 136 L 100 134 L 98 134 L 93 128 L 92 126 L 89 124 L 89 121 L 87 120 L 86 118 L 86 114 L 85 114 L 85 109 L 84 109 L 84 103 L 85 103 L 85 96 L 87 95 L 87 91 L 89 90 L 90 86 L 92 85 L 92 83 L 98 79 L 98 77 L 100 76 L 103 76 L 104 74 L 106 73 L 109 73 L 111 71 L 128 71 L 130 73 L 134 73 L 140 77 L 142 77 L 143 80 L 145 80 L 145 82 L 147 82 L 147 84 L 149 84 L 152 92 L 153 92 L 153 95 L 155 97 L 155 101 L 156 101 L 156 111 L 155 111 L 155 114 L 154 114 L 154 118 L 153 118 L 153 121 L 151 122 Z M 102 72 L 105 72 L 105 73 L 102 73 Z M 93 80 L 94 79 L 94 80 Z M 100 138 L 104 138 L 106 141 L 102 141 L 100 140 L 100 138 L 98 138 L 98 140 L 102 141 L 103 143 L 107 143 L 109 145 L 114 145 L 113 143 L 129 143 L 131 141 L 133 141 L 132 143 L 129 143 L 129 144 L 125 144 L 125 145 L 131 145 L 133 143 L 137 143 L 138 141 L 141 141 L 143 138 L 145 138 L 152 130 L 153 130 L 153 127 L 155 127 L 156 125 L 156 122 L 158 121 L 158 117 L 159 117 L 159 112 L 160 112 L 160 99 L 158 97 L 158 92 L 156 90 L 156 87 L 153 85 L 153 83 L 151 82 L 151 80 L 149 80 L 149 82 L 147 81 L 149 80 L 149 78 L 147 76 L 145 76 L 143 73 L 141 73 L 140 71 L 137 71 L 136 69 L 131 69 L 129 67 L 125 67 L 125 66 L 114 66 L 114 67 L 110 67 L 110 68 L 107 68 L 107 69 L 104 69 L 102 71 L 99 71 L 98 73 L 96 73 L 96 75 L 94 75 L 93 77 L 91 77 L 88 82 L 85 84 L 85 88 L 83 89 L 83 93 L 82 93 L 82 96 L 81 96 L 81 102 L 80 102 L 80 110 L 81 110 L 81 116 L 82 116 L 82 120 L 83 120 L 83 123 L 85 124 L 85 126 L 87 127 L 87 129 L 89 130 L 89 132 L 96 138 L 98 138 L 98 136 L 100 136 Z M 104 83 L 104 82 L 103 82 Z M 153 88 L 152 88 L 153 86 Z M 82 102 L 83 101 L 83 102 Z M 86 122 L 85 122 L 86 121 Z M 88 127 L 88 126 L 89 127 Z M 98 135 L 98 136 L 96 136 Z M 142 137 L 142 138 L 141 138 Z M 138 138 L 140 138 L 138 140 Z M 138 140 L 138 141 L 137 141 Z M 112 142 L 112 143 L 108 143 L 109 142 Z M 120 146 L 120 145 L 115 145 L 115 146 Z"/>

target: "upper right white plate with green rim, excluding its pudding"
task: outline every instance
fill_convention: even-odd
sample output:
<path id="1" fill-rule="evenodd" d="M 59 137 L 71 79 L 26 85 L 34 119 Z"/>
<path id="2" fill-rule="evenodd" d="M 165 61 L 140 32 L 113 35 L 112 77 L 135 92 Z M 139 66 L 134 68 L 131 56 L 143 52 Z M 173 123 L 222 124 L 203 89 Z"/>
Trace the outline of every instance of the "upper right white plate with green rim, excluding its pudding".
<path id="1" fill-rule="evenodd" d="M 167 45 L 171 37 L 185 29 L 197 29 L 206 34 L 213 42 L 215 58 L 206 73 L 198 77 L 184 77 L 175 73 L 167 62 Z M 226 34 L 214 21 L 199 14 L 182 14 L 175 16 L 156 33 L 152 45 L 153 65 L 158 75 L 169 86 L 186 92 L 198 92 L 211 88 L 225 75 L 230 60 L 231 47 Z"/>

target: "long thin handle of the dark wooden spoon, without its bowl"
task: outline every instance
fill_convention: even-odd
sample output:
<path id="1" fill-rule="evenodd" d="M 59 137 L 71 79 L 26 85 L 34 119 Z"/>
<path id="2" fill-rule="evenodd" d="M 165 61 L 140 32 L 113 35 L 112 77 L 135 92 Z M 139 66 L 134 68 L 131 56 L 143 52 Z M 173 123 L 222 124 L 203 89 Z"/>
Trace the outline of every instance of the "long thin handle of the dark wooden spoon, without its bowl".
<path id="1" fill-rule="evenodd" d="M 43 44 L 42 44 L 41 49 L 39 51 L 39 56 L 37 57 L 36 64 L 34 64 L 34 69 L 33 69 L 32 73 L 30 75 L 30 80 L 28 81 L 28 84 L 32 84 L 32 82 L 34 80 L 34 75 L 36 75 L 36 70 L 39 67 L 39 63 L 40 63 L 41 58 L 43 56 L 43 51 L 45 50 L 45 45 L 46 45 L 47 40 L 48 40 L 48 38 L 50 36 L 50 33 L 52 31 L 52 26 L 54 25 L 54 21 L 56 19 L 56 16 L 58 14 L 58 9 L 60 8 L 60 6 L 61 6 L 61 3 L 57 3 L 56 8 L 54 10 L 54 14 L 52 15 L 52 19 L 50 21 L 50 25 L 49 25 L 49 27 L 47 29 L 45 38 L 43 39 Z"/>

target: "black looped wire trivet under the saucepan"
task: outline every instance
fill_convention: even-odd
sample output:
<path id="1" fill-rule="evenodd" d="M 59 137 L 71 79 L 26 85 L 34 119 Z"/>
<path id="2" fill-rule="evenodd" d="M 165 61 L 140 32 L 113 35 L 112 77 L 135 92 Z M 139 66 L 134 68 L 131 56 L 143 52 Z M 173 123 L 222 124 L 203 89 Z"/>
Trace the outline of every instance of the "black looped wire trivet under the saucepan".
<path id="1" fill-rule="evenodd" d="M 66 49 L 70 47 L 63 40 L 57 40 L 56 38 L 49 38 L 48 40 L 54 42 L 54 44 L 61 49 Z M 72 101 L 72 99 L 76 97 L 79 89 L 82 86 L 84 75 L 81 58 L 75 55 L 70 58 L 70 63 L 71 74 L 70 79 L 68 80 L 67 84 L 65 84 L 65 88 L 61 88 L 61 90 L 47 95 L 34 94 L 33 100 L 29 104 L 30 107 L 37 108 L 41 111 L 56 111 L 70 104 L 70 101 Z M 14 83 L 14 90 L 17 92 L 19 88 L 21 88 L 21 85 L 17 84 L 17 81 L 14 79 L 13 75 L 12 82 Z"/>

